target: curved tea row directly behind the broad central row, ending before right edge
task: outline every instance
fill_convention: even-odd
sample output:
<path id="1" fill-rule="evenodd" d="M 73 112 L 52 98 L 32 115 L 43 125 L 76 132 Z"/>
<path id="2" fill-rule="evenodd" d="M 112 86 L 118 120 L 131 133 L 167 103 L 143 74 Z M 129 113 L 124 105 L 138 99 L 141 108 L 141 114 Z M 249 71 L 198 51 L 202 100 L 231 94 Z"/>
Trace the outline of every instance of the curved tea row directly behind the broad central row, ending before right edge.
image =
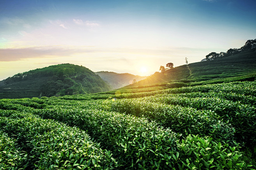
<path id="1" fill-rule="evenodd" d="M 209 110 L 196 110 L 191 107 L 150 103 L 140 99 L 124 99 L 109 102 L 111 111 L 146 116 L 165 127 L 170 127 L 184 136 L 198 134 L 200 137 L 211 136 L 214 140 L 233 141 L 234 128 L 219 120 L 216 113 Z M 106 102 L 103 102 L 106 107 Z"/>

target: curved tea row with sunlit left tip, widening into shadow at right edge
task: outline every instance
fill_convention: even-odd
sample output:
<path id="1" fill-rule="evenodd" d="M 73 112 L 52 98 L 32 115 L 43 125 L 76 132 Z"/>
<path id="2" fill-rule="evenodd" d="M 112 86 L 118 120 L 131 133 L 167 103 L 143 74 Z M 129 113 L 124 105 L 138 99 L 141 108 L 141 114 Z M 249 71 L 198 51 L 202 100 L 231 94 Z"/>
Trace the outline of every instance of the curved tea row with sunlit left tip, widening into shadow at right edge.
<path id="1" fill-rule="evenodd" d="M 169 94 L 150 96 L 141 100 L 168 105 L 190 106 L 200 110 L 212 110 L 220 118 L 231 123 L 239 142 L 256 143 L 256 108 L 220 98 L 173 97 Z"/>

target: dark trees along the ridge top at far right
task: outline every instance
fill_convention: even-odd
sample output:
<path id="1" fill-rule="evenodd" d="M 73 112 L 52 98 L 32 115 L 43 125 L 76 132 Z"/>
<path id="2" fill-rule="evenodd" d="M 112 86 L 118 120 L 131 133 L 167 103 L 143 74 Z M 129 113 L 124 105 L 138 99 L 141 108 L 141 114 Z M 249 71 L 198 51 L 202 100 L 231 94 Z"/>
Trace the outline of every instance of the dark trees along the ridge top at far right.
<path id="1" fill-rule="evenodd" d="M 208 55 L 206 55 L 206 60 L 214 60 L 217 58 L 224 58 L 224 57 L 229 57 L 241 52 L 245 52 L 248 50 L 255 50 L 256 51 L 256 39 L 251 39 L 247 40 L 245 45 L 242 46 L 241 48 L 230 48 L 227 52 L 211 52 Z"/>

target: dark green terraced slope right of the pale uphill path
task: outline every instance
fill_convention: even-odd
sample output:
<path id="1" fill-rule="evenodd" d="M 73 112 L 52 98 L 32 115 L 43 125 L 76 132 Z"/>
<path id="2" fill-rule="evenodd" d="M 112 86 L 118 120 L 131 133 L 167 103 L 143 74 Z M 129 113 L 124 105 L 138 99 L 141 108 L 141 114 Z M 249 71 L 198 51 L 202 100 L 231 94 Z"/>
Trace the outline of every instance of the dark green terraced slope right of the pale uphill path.
<path id="1" fill-rule="evenodd" d="M 256 74 L 256 52 L 189 64 L 194 81 Z"/>

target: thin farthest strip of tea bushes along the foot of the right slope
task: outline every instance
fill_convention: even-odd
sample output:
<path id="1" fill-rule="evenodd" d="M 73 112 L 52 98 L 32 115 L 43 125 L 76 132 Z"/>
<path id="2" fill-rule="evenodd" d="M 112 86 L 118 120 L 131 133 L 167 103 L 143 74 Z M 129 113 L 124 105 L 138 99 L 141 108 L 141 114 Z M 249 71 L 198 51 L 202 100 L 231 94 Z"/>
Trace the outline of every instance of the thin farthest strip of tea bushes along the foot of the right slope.
<path id="1" fill-rule="evenodd" d="M 251 95 L 256 96 L 256 81 L 244 81 L 244 82 L 229 82 L 229 83 L 221 83 L 221 84 L 207 84 L 201 86 L 192 86 L 192 87 L 182 87 L 182 88 L 171 88 L 171 89 L 157 89 L 155 91 L 143 91 L 137 93 L 122 93 L 119 90 L 112 92 L 111 94 L 79 94 L 79 95 L 72 95 L 72 96 L 62 96 L 62 97 L 42 97 L 42 99 L 58 99 L 58 100 L 98 100 L 98 99 L 110 99 L 110 98 L 141 98 L 146 96 L 152 96 L 155 94 L 179 94 L 179 93 L 191 93 L 191 92 L 223 92 L 223 93 L 237 93 L 241 95 Z M 37 102 L 34 99 L 34 102 Z M 37 102 L 42 104 L 40 102 Z"/>

